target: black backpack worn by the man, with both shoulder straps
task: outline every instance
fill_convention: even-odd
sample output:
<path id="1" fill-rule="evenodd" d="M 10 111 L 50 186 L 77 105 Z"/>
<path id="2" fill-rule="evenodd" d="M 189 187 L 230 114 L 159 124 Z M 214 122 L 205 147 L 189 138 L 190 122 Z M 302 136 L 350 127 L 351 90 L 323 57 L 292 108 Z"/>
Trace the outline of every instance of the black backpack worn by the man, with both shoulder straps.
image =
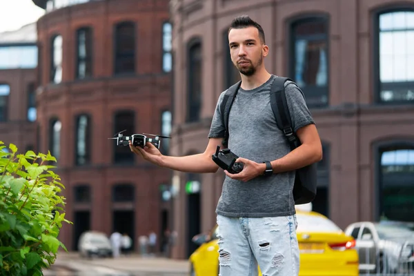
<path id="1" fill-rule="evenodd" d="M 292 81 L 292 79 L 276 77 L 275 81 L 273 81 L 270 89 L 270 106 L 272 106 L 277 126 L 284 132 L 286 139 L 288 139 L 290 150 L 293 150 L 300 146 L 300 140 L 293 131 L 292 122 L 290 120 L 290 112 L 284 91 L 285 81 Z M 221 102 L 221 118 L 223 119 L 226 128 L 222 144 L 225 147 L 228 146 L 228 114 L 241 84 L 242 81 L 238 81 L 233 84 L 233 86 L 230 86 Z M 317 164 L 313 163 L 296 170 L 295 185 L 293 186 L 293 199 L 295 200 L 295 204 L 307 204 L 315 198 L 317 183 L 316 166 Z"/>

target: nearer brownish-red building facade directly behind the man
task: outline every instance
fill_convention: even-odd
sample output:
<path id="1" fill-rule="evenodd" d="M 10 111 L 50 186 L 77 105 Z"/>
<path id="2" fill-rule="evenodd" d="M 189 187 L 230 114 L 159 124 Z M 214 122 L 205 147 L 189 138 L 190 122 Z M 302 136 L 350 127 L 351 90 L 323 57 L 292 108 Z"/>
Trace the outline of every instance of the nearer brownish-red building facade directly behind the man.
<path id="1" fill-rule="evenodd" d="M 322 139 L 317 210 L 354 221 L 411 221 L 414 210 L 414 1 L 173 0 L 171 154 L 204 152 L 222 91 L 238 80 L 227 31 L 248 14 L 266 33 L 266 68 L 304 91 Z M 173 256 L 210 230 L 224 173 L 174 172 Z M 196 188 L 193 188 L 196 187 Z"/>

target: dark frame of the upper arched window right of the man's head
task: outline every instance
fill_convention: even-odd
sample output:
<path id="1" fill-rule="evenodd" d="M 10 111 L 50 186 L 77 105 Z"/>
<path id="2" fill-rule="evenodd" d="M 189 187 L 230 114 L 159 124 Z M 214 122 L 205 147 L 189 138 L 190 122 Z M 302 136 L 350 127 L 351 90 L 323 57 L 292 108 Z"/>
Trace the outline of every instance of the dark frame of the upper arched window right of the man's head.
<path id="1" fill-rule="evenodd" d="M 300 14 L 297 17 L 291 17 L 286 21 L 286 34 L 288 39 L 286 39 L 286 57 L 288 59 L 286 60 L 286 72 L 288 72 L 288 76 L 290 79 L 293 79 L 293 81 L 296 81 L 295 79 L 295 35 L 294 35 L 294 28 L 295 25 L 299 23 L 306 23 L 308 21 L 313 21 L 316 19 L 317 21 L 324 21 L 326 24 L 326 88 L 321 87 L 304 87 L 304 95 L 306 97 L 306 105 L 309 109 L 324 109 L 328 108 L 330 106 L 331 101 L 331 16 L 327 13 L 322 12 L 315 12 L 315 13 L 308 13 L 308 14 Z M 293 49 L 293 50 L 292 50 Z M 309 91 L 310 92 L 306 92 Z M 319 90 L 326 90 L 319 92 Z M 319 94 L 326 96 L 326 103 L 322 103 L 322 101 L 319 101 L 317 104 L 311 104 L 308 103 L 308 97 L 309 94 L 315 93 L 317 96 Z"/>

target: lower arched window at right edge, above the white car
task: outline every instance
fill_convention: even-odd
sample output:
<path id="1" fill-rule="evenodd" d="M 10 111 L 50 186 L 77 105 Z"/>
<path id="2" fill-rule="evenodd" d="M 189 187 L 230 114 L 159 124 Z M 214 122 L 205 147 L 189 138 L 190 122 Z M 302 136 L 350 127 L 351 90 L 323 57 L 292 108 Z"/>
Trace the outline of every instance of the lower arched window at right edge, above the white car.
<path id="1" fill-rule="evenodd" d="M 412 221 L 414 210 L 414 143 L 380 148 L 380 219 Z"/>

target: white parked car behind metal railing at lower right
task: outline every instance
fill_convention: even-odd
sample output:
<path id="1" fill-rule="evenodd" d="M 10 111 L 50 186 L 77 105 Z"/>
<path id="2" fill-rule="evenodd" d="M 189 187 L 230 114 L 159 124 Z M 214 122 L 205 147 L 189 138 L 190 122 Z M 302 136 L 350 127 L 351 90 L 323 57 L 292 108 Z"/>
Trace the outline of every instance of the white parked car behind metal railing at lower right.
<path id="1" fill-rule="evenodd" d="M 414 275 L 414 231 L 408 224 L 360 221 L 345 233 L 357 242 L 361 273 Z"/>

